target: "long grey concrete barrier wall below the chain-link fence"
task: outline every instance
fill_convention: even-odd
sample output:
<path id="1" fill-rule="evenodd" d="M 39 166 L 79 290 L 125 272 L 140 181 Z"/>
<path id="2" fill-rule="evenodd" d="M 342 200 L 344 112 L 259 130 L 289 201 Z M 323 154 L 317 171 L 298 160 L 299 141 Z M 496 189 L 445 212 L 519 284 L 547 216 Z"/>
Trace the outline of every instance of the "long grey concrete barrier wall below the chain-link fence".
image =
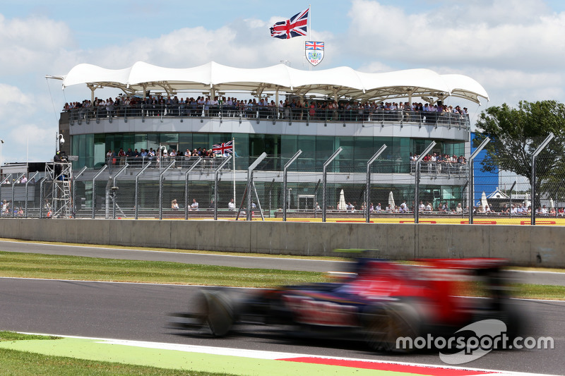
<path id="1" fill-rule="evenodd" d="M 565 227 L 453 224 L 0 219 L 0 236 L 30 241 L 330 256 L 505 257 L 515 265 L 565 267 Z"/>

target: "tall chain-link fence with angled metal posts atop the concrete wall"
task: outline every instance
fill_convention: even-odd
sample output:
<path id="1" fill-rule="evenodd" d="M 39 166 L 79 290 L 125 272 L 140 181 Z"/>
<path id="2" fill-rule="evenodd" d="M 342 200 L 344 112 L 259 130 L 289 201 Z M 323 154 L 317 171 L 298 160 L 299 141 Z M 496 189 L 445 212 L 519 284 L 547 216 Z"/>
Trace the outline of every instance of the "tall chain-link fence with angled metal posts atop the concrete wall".
<path id="1" fill-rule="evenodd" d="M 295 159 L 112 161 L 67 179 L 69 217 L 565 224 L 565 166 L 551 150 L 534 159 L 535 147 L 505 156 L 470 145 L 376 146 L 380 154 L 375 145 L 343 145 L 333 154 L 301 150 Z M 66 195 L 65 178 L 49 173 L 1 179 L 2 217 L 50 217 Z"/>

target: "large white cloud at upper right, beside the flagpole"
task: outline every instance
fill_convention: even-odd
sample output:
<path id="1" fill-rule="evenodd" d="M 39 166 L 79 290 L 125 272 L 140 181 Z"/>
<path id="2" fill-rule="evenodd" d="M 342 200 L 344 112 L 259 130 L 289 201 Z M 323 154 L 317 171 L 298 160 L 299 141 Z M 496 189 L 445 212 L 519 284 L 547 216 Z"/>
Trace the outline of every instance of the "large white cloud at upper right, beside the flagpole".
<path id="1" fill-rule="evenodd" d="M 468 1 L 445 6 L 446 11 L 422 8 L 407 13 L 377 1 L 355 0 L 349 13 L 350 37 L 359 43 L 350 49 L 416 66 L 456 63 L 561 68 L 565 13 L 549 13 L 536 0 Z"/>

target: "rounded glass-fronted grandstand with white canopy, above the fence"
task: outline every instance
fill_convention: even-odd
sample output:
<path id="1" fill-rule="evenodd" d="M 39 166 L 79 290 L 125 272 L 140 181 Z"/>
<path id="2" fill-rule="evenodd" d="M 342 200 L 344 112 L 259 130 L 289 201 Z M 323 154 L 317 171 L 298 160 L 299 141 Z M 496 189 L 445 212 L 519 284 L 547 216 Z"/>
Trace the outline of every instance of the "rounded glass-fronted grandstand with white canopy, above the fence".
<path id="1" fill-rule="evenodd" d="M 119 157 L 107 157 L 109 151 L 165 147 L 177 150 L 181 159 L 187 149 L 210 150 L 233 140 L 236 170 L 245 170 L 266 152 L 263 169 L 281 171 L 287 159 L 302 150 L 292 171 L 313 173 L 295 177 L 297 188 L 304 183 L 301 193 L 307 196 L 319 181 L 314 173 L 339 147 L 343 152 L 331 172 L 350 179 L 354 174 L 363 176 L 367 160 L 386 145 L 374 169 L 375 200 L 386 200 L 389 191 L 414 200 L 410 157 L 420 154 L 432 140 L 436 142 L 432 153 L 468 157 L 470 121 L 458 106 L 488 99 L 472 78 L 427 69 L 362 73 L 347 67 L 300 71 L 278 64 L 244 69 L 210 62 L 194 68 L 162 68 L 138 62 L 120 70 L 80 64 L 66 75 L 49 77 L 62 80 L 63 87 L 90 89 L 85 91 L 88 100 L 69 104 L 59 121 L 59 133 L 71 141 L 61 149 L 78 156 L 73 167 L 87 168 L 82 175 L 87 182 L 102 166 L 119 165 Z M 112 102 L 102 95 L 98 98 L 108 88 L 120 92 Z M 215 97 L 218 102 L 213 102 Z M 141 167 L 140 160 L 144 159 L 127 157 L 133 168 Z M 464 201 L 468 174 L 463 164 L 424 164 L 422 168 L 419 200 Z M 110 170 L 104 174 L 111 176 Z M 206 186 L 206 176 L 200 179 Z M 268 180 L 258 188 L 265 190 Z M 332 195 L 338 195 L 343 186 L 331 186 Z M 209 198 L 208 193 L 201 201 Z M 280 195 L 274 200 L 273 207 L 282 205 Z M 298 201 L 292 198 L 293 205 L 299 205 Z"/>

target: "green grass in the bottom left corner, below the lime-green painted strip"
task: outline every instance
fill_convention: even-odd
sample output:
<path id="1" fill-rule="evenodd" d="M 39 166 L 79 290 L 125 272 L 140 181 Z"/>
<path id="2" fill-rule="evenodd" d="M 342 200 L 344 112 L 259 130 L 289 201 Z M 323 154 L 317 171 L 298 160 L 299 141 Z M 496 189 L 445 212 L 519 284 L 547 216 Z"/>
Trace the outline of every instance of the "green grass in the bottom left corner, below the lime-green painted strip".
<path id="1" fill-rule="evenodd" d="M 95 362 L 44 356 L 24 351 L 0 348 L 0 374 L 3 376 L 116 376 L 116 375 L 157 375 L 157 376 L 227 376 L 227 373 L 195 372 L 188 370 L 167 370 L 110 362 Z"/>

